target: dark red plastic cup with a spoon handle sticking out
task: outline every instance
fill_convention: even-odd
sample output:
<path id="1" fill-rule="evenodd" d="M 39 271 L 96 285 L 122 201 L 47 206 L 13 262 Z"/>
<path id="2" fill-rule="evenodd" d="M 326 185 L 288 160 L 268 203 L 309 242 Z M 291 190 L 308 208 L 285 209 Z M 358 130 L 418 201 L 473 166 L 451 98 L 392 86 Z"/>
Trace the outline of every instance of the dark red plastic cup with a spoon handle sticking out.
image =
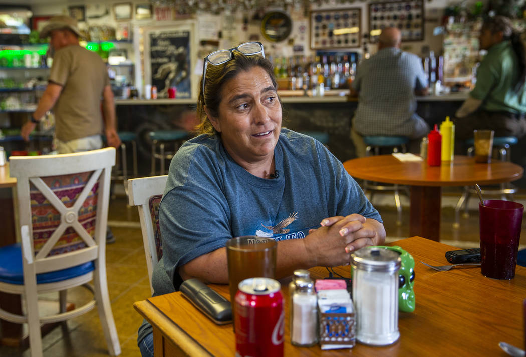
<path id="1" fill-rule="evenodd" d="M 484 277 L 515 277 L 524 206 L 517 202 L 487 200 L 479 203 L 481 273 Z"/>

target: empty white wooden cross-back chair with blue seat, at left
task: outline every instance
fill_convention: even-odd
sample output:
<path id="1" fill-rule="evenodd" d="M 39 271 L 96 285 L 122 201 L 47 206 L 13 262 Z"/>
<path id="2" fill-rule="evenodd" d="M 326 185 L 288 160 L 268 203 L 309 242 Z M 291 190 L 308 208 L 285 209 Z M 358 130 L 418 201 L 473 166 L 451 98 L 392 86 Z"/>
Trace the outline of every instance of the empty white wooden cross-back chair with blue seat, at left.
<path id="1" fill-rule="evenodd" d="M 75 318 L 95 306 L 109 354 L 120 354 L 106 281 L 114 165 L 114 148 L 9 159 L 11 176 L 17 180 L 22 244 L 0 248 L 0 291 L 24 295 L 26 315 L 0 309 L 0 319 L 27 323 L 32 357 L 42 356 L 41 324 Z M 94 299 L 66 312 L 66 290 L 80 285 L 91 290 Z M 60 311 L 39 317 L 37 294 L 55 291 Z"/>

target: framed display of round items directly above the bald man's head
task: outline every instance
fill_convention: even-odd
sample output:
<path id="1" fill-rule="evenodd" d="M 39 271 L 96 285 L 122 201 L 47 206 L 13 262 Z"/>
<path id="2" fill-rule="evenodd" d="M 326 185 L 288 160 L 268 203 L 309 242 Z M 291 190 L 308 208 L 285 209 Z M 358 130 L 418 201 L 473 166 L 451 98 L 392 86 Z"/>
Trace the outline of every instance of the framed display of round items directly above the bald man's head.
<path id="1" fill-rule="evenodd" d="M 382 28 L 398 27 L 402 42 L 424 39 L 424 0 L 370 3 L 369 40 L 376 43 Z"/>

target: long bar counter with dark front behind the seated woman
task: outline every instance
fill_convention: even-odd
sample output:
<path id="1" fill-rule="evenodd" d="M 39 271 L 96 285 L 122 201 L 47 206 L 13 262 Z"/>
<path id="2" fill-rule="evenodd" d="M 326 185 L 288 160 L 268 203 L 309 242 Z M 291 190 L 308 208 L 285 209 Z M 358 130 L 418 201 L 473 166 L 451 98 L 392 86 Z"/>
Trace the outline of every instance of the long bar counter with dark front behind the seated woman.
<path id="1" fill-rule="evenodd" d="M 351 118 L 358 98 L 348 90 L 326 90 L 324 96 L 301 95 L 303 90 L 279 90 L 283 103 L 282 126 L 295 131 L 321 131 L 329 134 L 328 148 L 341 161 L 356 157 L 349 138 Z M 417 113 L 430 126 L 452 116 L 468 96 L 467 92 L 417 97 Z M 149 158 L 151 143 L 147 133 L 154 130 L 183 129 L 197 124 L 196 99 L 117 99 L 118 128 L 139 136 L 139 153 Z M 145 172 L 146 173 L 146 172 Z"/>

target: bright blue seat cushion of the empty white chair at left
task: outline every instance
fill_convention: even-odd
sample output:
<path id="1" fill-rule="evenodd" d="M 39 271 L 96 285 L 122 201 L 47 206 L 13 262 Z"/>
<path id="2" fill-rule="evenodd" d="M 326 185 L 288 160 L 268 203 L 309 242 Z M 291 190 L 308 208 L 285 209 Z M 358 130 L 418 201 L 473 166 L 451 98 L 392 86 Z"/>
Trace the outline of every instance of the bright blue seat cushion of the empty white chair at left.
<path id="1" fill-rule="evenodd" d="M 94 269 L 93 262 L 87 262 L 64 270 L 37 274 L 36 282 L 37 284 L 45 284 L 72 279 L 89 273 Z M 0 281 L 8 284 L 24 284 L 22 249 L 19 243 L 0 248 Z"/>

